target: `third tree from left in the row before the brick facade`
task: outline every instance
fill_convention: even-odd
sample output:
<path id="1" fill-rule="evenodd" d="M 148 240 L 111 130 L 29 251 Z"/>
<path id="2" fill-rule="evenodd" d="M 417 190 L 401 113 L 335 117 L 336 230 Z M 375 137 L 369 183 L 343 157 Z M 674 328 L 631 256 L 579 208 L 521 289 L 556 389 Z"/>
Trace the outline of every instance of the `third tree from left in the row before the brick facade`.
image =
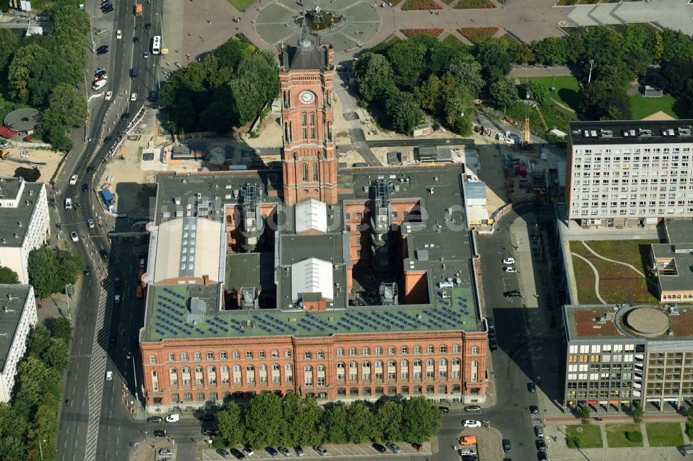
<path id="1" fill-rule="evenodd" d="M 289 446 L 322 443 L 324 428 L 320 424 L 322 410 L 315 397 L 301 399 L 297 393 L 286 396 L 283 417 L 288 428 L 284 442 Z"/>

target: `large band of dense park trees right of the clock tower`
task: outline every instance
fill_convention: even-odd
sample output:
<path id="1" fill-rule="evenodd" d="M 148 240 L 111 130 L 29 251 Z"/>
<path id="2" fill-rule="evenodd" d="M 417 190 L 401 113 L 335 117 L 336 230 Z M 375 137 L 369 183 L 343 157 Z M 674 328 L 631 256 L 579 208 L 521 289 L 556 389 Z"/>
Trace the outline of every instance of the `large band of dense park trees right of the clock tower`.
<path id="1" fill-rule="evenodd" d="M 631 118 L 626 89 L 635 78 L 644 81 L 656 66 L 661 69 L 653 84 L 693 105 L 690 35 L 644 24 L 595 26 L 530 45 L 491 38 L 468 47 L 422 34 L 374 46 L 354 63 L 353 71 L 360 104 L 381 125 L 409 134 L 425 111 L 453 132 L 468 135 L 475 98 L 502 111 L 524 113 L 524 85 L 520 94 L 507 75 L 513 64 L 529 63 L 570 66 L 584 82 L 579 111 L 589 120 Z M 548 89 L 536 82 L 531 89 L 541 104 Z"/>

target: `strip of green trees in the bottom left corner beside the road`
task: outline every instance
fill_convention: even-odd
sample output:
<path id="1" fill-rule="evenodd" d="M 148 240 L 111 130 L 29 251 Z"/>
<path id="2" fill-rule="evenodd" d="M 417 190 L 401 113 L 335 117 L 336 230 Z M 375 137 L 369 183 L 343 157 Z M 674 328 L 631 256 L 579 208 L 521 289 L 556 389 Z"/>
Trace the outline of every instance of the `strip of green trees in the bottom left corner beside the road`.
<path id="1" fill-rule="evenodd" d="M 72 327 L 66 318 L 50 320 L 29 335 L 10 404 L 0 403 L 3 461 L 51 461 L 57 456 L 58 406 Z"/>

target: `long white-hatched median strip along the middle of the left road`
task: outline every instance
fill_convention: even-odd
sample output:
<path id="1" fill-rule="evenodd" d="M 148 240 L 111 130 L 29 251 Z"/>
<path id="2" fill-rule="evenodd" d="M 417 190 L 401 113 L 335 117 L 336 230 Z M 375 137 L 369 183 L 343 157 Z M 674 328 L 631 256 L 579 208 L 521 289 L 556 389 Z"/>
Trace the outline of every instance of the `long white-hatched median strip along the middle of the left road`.
<path id="1" fill-rule="evenodd" d="M 118 263 L 118 254 L 114 251 L 109 264 Z M 105 382 L 106 363 L 108 354 L 109 332 L 111 329 L 111 314 L 113 308 L 113 280 L 107 278 L 102 287 L 96 312 L 96 327 L 94 328 L 94 343 L 91 347 L 91 362 L 89 363 L 89 418 L 87 422 L 87 441 L 85 444 L 85 461 L 96 461 L 96 446 L 98 444 L 98 422 L 101 417 L 101 400 Z M 82 307 L 89 309 L 89 306 Z"/>

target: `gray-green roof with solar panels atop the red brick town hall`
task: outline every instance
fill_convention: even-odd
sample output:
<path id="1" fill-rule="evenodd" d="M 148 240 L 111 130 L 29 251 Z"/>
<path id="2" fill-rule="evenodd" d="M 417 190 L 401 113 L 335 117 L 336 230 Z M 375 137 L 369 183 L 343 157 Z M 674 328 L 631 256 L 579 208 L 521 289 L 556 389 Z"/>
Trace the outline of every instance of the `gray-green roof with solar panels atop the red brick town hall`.
<path id="1" fill-rule="evenodd" d="M 459 165 L 340 169 L 337 177 L 340 204 L 328 210 L 333 215 L 332 218 L 328 217 L 328 233 L 296 235 L 292 222 L 293 207 L 285 206 L 285 219 L 279 226 L 278 235 L 275 235 L 275 242 L 278 242 L 278 246 L 275 246 L 276 260 L 273 253 L 227 256 L 225 289 L 228 291 L 241 286 L 255 286 L 269 291 L 271 288 L 267 285 L 276 279 L 279 284 L 276 287 L 278 309 L 218 311 L 218 303 L 207 301 L 204 324 L 186 326 L 182 323 L 184 310 L 191 299 L 188 291 L 196 289 L 195 286 L 151 287 L 148 292 L 143 341 L 214 336 L 482 331 L 482 315 L 475 302 L 476 288 L 472 275 L 472 237 L 465 228 L 462 215 L 461 174 Z M 407 253 L 410 255 L 403 261 L 403 269 L 427 273 L 423 282 L 428 285 L 428 296 L 419 300 L 419 304 L 365 307 L 350 305 L 346 282 L 347 265 L 351 262 L 348 261 L 349 239 L 342 219 L 342 202 L 370 201 L 371 186 L 376 179 L 392 181 L 390 197 L 393 201 L 419 203 L 426 210 L 426 219 L 417 222 L 416 217 L 410 215 L 410 222 L 401 228 L 401 233 L 407 235 Z M 157 222 L 161 219 L 162 206 L 178 207 L 175 205 L 175 197 L 185 202 L 187 199 L 194 200 L 197 193 L 210 200 L 217 200 L 218 204 L 211 209 L 222 210 L 223 205 L 237 203 L 238 199 L 234 198 L 233 192 L 247 182 L 263 184 L 261 202 L 278 203 L 280 199 L 277 192 L 281 191 L 278 180 L 281 181 L 281 172 L 271 170 L 161 174 L 158 177 L 156 219 Z M 435 195 L 430 194 L 432 187 L 435 188 Z M 455 210 L 452 216 L 447 213 L 450 208 Z M 222 214 L 217 213 L 211 218 L 222 219 Z M 296 306 L 289 308 L 288 302 L 284 302 L 285 296 L 291 296 L 290 265 L 308 257 L 331 263 L 335 283 L 331 310 L 311 313 L 298 310 Z M 366 266 L 354 266 L 354 271 L 365 271 L 364 267 Z M 275 268 L 279 268 L 276 275 Z M 354 283 L 357 283 L 356 278 Z M 440 283 L 453 287 L 448 289 L 448 296 L 451 297 L 442 297 Z M 207 289 L 211 290 L 212 287 Z"/>

